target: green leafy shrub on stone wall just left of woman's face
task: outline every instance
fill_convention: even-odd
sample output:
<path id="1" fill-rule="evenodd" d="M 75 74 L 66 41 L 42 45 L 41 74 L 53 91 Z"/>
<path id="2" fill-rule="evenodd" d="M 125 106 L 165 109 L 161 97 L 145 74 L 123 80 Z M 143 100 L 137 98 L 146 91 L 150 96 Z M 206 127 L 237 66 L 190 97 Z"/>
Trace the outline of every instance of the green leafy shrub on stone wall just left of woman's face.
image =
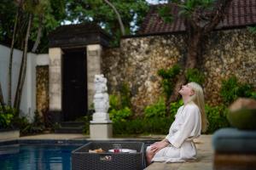
<path id="1" fill-rule="evenodd" d="M 172 68 L 168 70 L 160 69 L 157 74 L 162 77 L 162 87 L 164 93 L 166 94 L 166 99 L 172 95 L 172 90 L 177 80 L 177 75 L 180 72 L 181 68 L 179 65 L 173 65 Z"/>

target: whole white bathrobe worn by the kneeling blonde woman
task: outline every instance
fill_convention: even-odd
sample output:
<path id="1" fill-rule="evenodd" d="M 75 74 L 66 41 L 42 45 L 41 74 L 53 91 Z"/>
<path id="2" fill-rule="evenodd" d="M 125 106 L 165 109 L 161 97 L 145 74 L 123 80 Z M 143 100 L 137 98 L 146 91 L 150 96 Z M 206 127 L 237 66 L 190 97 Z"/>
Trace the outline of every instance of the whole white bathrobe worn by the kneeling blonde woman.
<path id="1" fill-rule="evenodd" d="M 166 139 L 170 145 L 159 150 L 152 161 L 182 162 L 194 160 L 196 147 L 193 139 L 201 135 L 201 112 L 197 105 L 183 105 L 177 110 Z M 147 150 L 150 149 L 148 146 Z"/>

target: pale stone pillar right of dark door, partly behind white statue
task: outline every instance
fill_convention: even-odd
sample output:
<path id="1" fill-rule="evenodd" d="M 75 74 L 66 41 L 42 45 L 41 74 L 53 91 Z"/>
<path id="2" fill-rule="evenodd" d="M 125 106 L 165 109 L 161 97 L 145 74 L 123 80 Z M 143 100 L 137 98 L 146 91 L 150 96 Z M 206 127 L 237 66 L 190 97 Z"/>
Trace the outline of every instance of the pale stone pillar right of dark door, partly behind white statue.
<path id="1" fill-rule="evenodd" d="M 93 103 L 94 76 L 102 72 L 102 46 L 100 44 L 87 46 L 87 88 L 88 106 Z"/>

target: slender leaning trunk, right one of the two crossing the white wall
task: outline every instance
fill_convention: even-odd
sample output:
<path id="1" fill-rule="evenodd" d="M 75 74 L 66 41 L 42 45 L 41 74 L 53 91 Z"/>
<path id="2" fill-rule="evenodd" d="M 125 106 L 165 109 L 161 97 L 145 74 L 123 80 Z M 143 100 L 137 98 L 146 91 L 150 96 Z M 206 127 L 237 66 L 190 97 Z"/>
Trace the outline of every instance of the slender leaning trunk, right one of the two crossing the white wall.
<path id="1" fill-rule="evenodd" d="M 20 100 L 22 95 L 22 88 L 24 85 L 25 77 L 26 77 L 27 43 L 30 35 L 31 23 L 32 23 L 32 14 L 29 14 L 28 26 L 26 29 L 26 38 L 25 38 L 24 49 L 22 54 L 22 62 L 20 65 L 19 81 L 18 81 L 16 95 L 15 95 L 15 109 L 17 109 L 17 111 L 20 111 Z"/>

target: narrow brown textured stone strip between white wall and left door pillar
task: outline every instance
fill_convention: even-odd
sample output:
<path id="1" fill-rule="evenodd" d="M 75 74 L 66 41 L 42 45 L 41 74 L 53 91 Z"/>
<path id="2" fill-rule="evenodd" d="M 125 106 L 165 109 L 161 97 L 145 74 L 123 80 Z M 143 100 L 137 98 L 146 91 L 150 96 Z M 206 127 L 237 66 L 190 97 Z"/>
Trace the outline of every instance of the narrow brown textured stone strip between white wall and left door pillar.
<path id="1" fill-rule="evenodd" d="M 49 66 L 37 66 L 37 111 L 43 116 L 49 111 Z"/>

